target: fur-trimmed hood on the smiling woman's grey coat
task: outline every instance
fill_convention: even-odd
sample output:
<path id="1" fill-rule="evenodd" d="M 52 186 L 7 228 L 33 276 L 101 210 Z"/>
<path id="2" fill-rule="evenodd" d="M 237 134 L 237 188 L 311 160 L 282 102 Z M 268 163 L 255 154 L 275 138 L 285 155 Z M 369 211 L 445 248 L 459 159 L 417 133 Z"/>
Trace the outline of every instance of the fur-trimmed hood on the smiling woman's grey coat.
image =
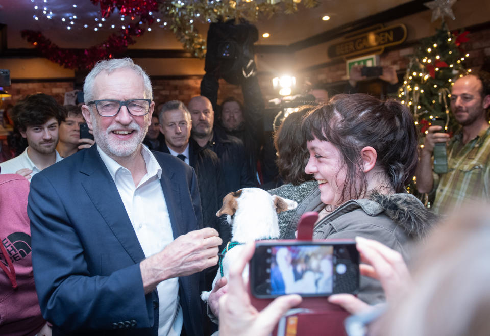
<path id="1" fill-rule="evenodd" d="M 374 192 L 356 202 L 371 216 L 384 213 L 414 238 L 425 237 L 439 219 L 418 198 L 408 193 L 383 195 Z"/>

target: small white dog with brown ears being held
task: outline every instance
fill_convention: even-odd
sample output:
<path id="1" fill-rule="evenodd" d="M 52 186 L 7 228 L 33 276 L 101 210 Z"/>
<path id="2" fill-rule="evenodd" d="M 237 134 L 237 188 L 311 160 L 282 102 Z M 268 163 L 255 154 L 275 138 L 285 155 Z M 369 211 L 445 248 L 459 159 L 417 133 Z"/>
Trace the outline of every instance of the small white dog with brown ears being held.
<path id="1" fill-rule="evenodd" d="M 219 270 L 213 280 L 213 288 L 220 278 L 228 277 L 229 266 L 241 254 L 241 244 L 279 238 L 277 214 L 297 206 L 298 203 L 293 200 L 271 195 L 259 188 L 243 188 L 226 195 L 216 216 L 227 215 L 227 222 L 232 226 L 232 240 L 219 257 Z M 248 266 L 243 271 L 243 278 L 248 278 Z M 201 299 L 207 301 L 210 293 L 203 291 Z"/>

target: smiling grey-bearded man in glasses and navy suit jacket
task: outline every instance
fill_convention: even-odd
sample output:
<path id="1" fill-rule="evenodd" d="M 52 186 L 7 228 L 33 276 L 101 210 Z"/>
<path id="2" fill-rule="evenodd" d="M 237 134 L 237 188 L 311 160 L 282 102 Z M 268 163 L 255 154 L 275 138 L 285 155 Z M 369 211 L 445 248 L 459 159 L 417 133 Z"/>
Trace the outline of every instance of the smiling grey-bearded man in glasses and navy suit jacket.
<path id="1" fill-rule="evenodd" d="M 96 145 L 34 176 L 29 195 L 41 312 L 57 334 L 202 335 L 200 271 L 221 239 L 202 228 L 192 169 L 141 143 L 154 109 L 131 59 L 84 84 Z"/>

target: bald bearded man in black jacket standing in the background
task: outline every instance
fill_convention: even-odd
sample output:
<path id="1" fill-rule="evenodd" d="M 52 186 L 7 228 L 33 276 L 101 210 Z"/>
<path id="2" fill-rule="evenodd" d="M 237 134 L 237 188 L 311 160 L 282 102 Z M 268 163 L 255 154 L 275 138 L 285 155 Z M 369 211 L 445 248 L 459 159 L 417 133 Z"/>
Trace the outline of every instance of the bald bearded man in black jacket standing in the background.
<path id="1" fill-rule="evenodd" d="M 203 96 L 193 97 L 189 102 L 189 111 L 192 118 L 192 138 L 200 147 L 215 152 L 221 160 L 225 191 L 256 187 L 243 142 L 227 135 L 222 129 L 213 128 L 214 111 L 209 99 Z"/>

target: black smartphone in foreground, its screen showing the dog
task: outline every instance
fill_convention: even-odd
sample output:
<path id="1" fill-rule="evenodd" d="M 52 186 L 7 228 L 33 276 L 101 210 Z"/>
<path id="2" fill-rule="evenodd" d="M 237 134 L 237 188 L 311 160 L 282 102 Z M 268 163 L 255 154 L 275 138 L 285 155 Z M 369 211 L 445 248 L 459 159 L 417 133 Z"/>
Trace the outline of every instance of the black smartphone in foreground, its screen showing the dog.
<path id="1" fill-rule="evenodd" d="M 359 252 L 354 241 L 257 242 L 250 288 L 257 298 L 357 293 Z"/>

